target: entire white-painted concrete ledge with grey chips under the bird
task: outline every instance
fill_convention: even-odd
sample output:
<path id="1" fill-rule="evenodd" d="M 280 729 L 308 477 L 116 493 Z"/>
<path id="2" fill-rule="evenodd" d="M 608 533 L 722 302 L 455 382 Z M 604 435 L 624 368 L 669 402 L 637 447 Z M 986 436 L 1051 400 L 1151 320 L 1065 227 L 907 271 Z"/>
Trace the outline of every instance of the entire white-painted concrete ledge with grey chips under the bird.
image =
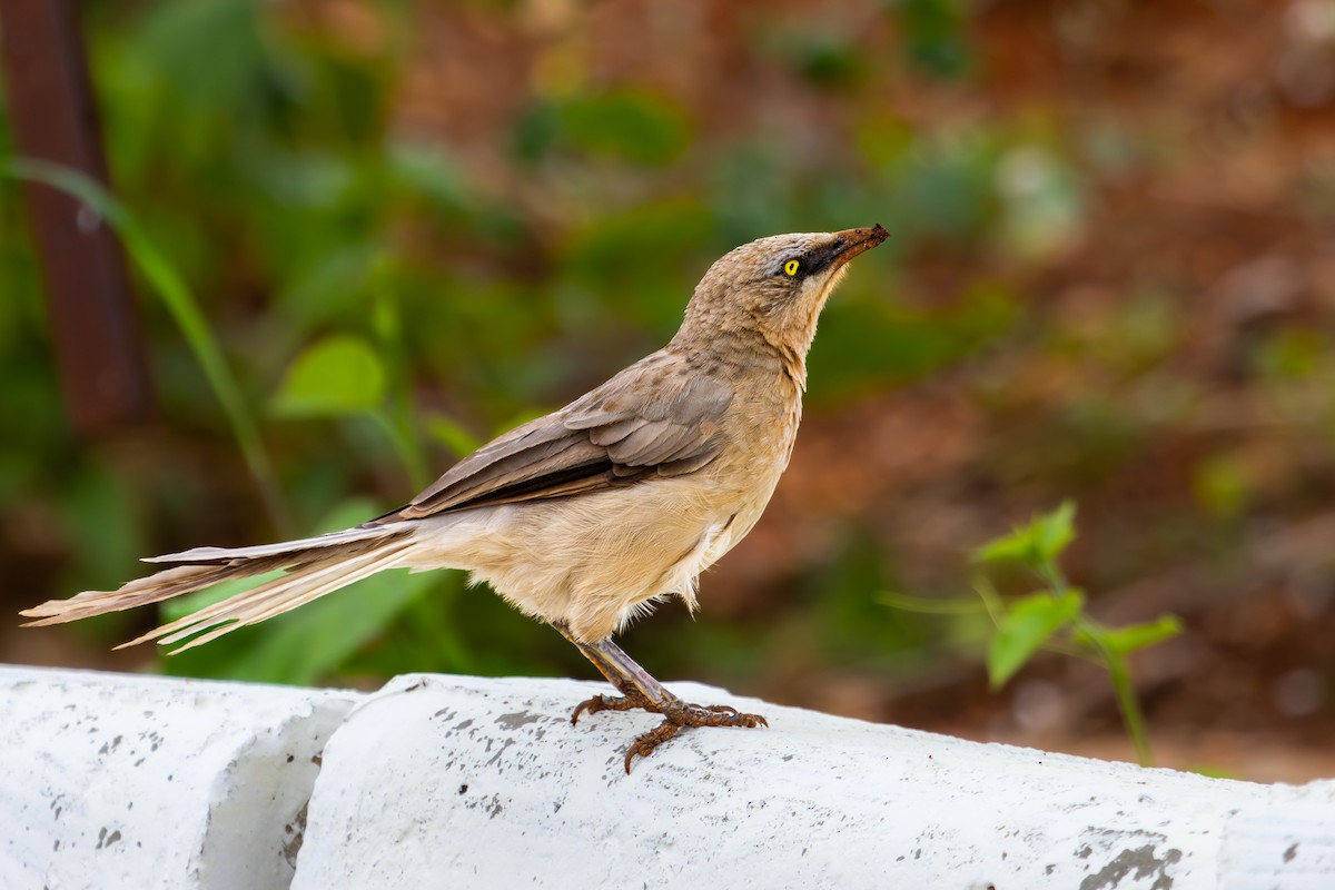
<path id="1" fill-rule="evenodd" d="M 0 887 L 1335 886 L 1335 782 L 674 689 L 772 729 L 685 733 L 626 777 L 626 742 L 657 721 L 571 727 L 594 683 L 403 677 L 354 695 L 0 670 Z"/>

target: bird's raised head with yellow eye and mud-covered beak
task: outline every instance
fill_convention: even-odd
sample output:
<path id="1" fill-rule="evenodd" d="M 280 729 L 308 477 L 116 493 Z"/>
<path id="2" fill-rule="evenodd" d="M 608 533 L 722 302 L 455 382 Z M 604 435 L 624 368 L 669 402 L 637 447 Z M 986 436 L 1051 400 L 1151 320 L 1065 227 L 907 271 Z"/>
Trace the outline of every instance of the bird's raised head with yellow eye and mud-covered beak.
<path id="1" fill-rule="evenodd" d="M 821 307 L 848 262 L 886 238 L 889 232 L 877 224 L 842 232 L 773 235 L 742 244 L 705 272 L 677 338 L 708 342 L 712 332 L 726 338 L 756 331 L 802 364 Z"/>

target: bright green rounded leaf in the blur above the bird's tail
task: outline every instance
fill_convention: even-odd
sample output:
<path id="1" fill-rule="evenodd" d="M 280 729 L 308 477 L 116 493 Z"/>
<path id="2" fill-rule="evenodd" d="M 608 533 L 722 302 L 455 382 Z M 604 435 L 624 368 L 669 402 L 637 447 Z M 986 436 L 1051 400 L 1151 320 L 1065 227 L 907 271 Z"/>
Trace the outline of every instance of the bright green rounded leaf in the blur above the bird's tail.
<path id="1" fill-rule="evenodd" d="M 359 414 L 384 400 L 384 366 L 370 344 L 339 334 L 296 358 L 271 407 L 287 416 Z"/>

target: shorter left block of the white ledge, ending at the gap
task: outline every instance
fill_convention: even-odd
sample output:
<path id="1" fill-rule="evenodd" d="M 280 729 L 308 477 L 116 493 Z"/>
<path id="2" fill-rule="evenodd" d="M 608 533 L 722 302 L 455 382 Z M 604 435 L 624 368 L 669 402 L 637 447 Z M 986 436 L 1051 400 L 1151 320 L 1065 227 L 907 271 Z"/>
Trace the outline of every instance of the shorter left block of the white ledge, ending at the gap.
<path id="1" fill-rule="evenodd" d="M 344 693 L 0 667 L 0 887 L 291 883 Z"/>

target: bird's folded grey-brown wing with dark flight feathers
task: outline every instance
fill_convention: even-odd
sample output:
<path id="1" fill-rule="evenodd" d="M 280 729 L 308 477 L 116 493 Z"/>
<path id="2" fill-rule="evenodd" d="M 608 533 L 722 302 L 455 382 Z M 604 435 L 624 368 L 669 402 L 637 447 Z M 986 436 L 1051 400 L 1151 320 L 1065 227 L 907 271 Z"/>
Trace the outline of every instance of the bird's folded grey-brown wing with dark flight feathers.
<path id="1" fill-rule="evenodd" d="M 485 444 L 380 520 L 539 500 L 692 472 L 724 446 L 733 388 L 655 352 L 565 408 Z"/>

